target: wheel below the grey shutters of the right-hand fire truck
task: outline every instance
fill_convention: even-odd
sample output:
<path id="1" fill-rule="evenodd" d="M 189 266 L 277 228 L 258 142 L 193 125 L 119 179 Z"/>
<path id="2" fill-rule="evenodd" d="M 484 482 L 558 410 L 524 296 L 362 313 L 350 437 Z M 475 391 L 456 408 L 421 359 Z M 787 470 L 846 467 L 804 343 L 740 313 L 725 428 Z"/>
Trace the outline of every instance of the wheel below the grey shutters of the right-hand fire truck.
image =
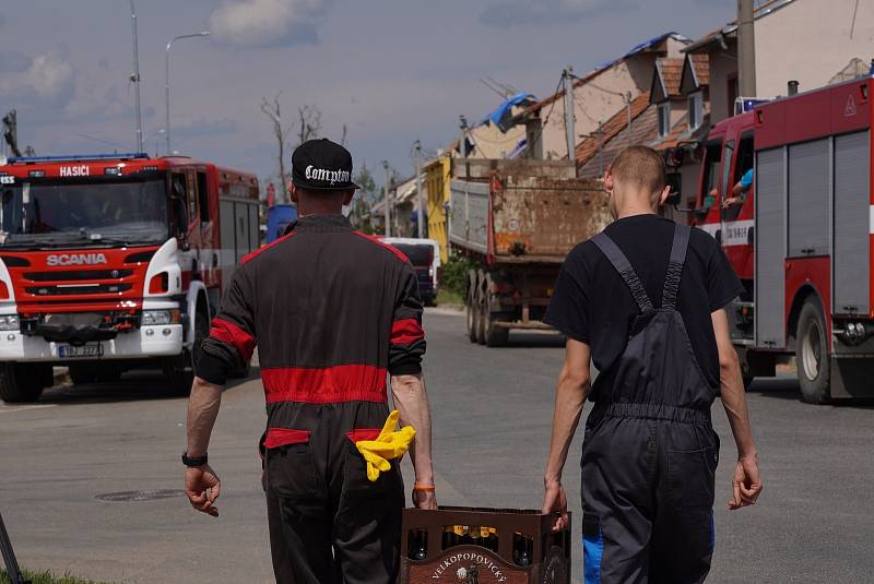
<path id="1" fill-rule="evenodd" d="M 826 320 L 819 300 L 810 297 L 799 313 L 795 336 L 801 401 L 807 404 L 827 404 L 831 398 L 831 368 L 826 337 Z"/>

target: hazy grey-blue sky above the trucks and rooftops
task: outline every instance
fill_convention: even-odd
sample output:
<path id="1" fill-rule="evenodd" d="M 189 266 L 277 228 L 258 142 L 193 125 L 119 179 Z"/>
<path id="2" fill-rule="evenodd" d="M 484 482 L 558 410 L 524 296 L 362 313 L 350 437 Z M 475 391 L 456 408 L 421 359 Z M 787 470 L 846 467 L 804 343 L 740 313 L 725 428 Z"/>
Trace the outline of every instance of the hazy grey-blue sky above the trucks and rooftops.
<path id="1" fill-rule="evenodd" d="M 665 32 L 697 38 L 733 19 L 735 0 L 137 0 L 145 150 L 166 153 L 165 47 L 173 150 L 279 171 L 263 98 L 321 111 L 321 135 L 346 145 L 381 182 L 380 164 L 414 172 L 425 152 L 501 98 L 492 78 L 545 97 L 562 69 L 582 74 Z M 14 10 L 2 10 L 3 7 Z M 130 3 L 0 0 L 0 110 L 37 154 L 135 150 Z M 286 154 L 290 164 L 291 150 Z"/>

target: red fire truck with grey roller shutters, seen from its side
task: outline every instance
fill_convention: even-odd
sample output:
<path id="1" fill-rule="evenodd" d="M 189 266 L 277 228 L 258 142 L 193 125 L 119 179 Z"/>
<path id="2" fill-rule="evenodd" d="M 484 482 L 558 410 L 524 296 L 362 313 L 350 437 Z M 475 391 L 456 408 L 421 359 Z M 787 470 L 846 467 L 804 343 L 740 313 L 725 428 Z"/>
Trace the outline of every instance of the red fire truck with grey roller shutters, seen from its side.
<path id="1" fill-rule="evenodd" d="M 693 223 L 746 288 L 729 311 L 745 381 L 794 354 L 810 403 L 874 395 L 871 91 L 864 78 L 758 104 L 704 145 Z"/>

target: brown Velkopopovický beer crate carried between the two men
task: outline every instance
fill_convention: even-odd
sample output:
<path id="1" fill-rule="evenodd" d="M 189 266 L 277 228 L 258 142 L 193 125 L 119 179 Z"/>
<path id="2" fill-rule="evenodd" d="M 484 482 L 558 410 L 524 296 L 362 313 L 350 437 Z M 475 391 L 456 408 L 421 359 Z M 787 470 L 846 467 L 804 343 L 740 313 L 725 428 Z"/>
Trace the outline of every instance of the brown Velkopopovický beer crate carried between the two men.
<path id="1" fill-rule="evenodd" d="M 570 522 L 552 525 L 533 510 L 404 509 L 399 582 L 569 584 Z"/>

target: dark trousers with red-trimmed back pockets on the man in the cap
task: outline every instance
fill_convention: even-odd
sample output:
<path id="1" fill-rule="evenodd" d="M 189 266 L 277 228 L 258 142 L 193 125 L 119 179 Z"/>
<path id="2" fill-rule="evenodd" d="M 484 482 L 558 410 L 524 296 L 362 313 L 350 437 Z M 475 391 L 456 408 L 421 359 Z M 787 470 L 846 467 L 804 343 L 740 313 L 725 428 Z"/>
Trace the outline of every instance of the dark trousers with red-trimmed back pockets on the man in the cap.
<path id="1" fill-rule="evenodd" d="M 403 480 L 392 463 L 391 470 L 371 482 L 354 444 L 354 440 L 376 438 L 388 416 L 386 404 L 284 405 L 283 410 L 294 414 L 277 413 L 274 424 L 305 429 L 305 433 L 286 432 L 284 439 L 279 433 L 268 443 L 272 448 L 265 449 L 264 486 L 276 582 L 393 583 Z"/>

